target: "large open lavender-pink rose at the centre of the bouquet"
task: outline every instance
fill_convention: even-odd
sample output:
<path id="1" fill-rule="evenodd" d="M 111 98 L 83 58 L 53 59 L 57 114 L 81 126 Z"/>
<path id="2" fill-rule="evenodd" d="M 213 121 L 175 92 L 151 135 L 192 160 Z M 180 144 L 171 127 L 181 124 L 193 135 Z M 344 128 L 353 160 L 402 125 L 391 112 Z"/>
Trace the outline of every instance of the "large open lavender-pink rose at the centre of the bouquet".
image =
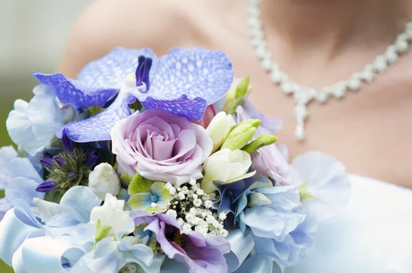
<path id="1" fill-rule="evenodd" d="M 213 147 L 205 128 L 162 109 L 117 121 L 110 135 L 119 169 L 176 185 L 203 177 Z"/>

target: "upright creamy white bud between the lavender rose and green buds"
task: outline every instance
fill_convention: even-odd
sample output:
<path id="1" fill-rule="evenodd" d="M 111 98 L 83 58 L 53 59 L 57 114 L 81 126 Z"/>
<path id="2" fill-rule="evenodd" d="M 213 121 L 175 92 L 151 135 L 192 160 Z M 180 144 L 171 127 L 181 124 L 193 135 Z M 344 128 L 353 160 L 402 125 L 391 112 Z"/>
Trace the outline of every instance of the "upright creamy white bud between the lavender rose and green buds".
<path id="1" fill-rule="evenodd" d="M 227 135 L 230 132 L 232 126 L 235 125 L 235 121 L 231 115 L 227 115 L 225 112 L 219 112 L 210 122 L 206 128 L 207 134 L 213 141 L 213 150 L 215 152 L 225 141 Z"/>

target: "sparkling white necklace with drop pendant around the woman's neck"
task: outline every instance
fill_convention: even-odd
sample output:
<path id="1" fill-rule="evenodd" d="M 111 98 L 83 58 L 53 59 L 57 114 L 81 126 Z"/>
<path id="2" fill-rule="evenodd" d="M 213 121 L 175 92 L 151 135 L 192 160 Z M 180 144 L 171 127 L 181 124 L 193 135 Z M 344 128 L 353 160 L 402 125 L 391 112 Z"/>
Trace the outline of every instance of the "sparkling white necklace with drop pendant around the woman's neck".
<path id="1" fill-rule="evenodd" d="M 275 84 L 279 84 L 281 90 L 295 97 L 295 110 L 293 114 L 296 119 L 295 138 L 298 141 L 305 139 L 304 125 L 308 117 L 308 103 L 316 100 L 321 104 L 328 102 L 330 95 L 336 99 L 342 99 L 346 96 L 347 90 L 358 91 L 363 83 L 371 83 L 377 73 L 386 71 L 389 64 L 395 63 L 400 54 L 409 50 L 409 43 L 412 42 L 412 21 L 407 23 L 407 27 L 396 38 L 393 45 L 389 45 L 385 52 L 377 56 L 371 64 L 367 64 L 363 71 L 353 73 L 350 78 L 337 82 L 332 86 L 324 86 L 320 90 L 299 86 L 288 75 L 279 68 L 279 64 L 272 58 L 271 51 L 266 48 L 267 42 L 264 37 L 262 28 L 262 19 L 260 18 L 261 10 L 259 0 L 248 0 L 247 21 L 249 25 L 249 34 L 255 54 L 262 62 L 262 67 L 269 73 L 269 77 Z"/>

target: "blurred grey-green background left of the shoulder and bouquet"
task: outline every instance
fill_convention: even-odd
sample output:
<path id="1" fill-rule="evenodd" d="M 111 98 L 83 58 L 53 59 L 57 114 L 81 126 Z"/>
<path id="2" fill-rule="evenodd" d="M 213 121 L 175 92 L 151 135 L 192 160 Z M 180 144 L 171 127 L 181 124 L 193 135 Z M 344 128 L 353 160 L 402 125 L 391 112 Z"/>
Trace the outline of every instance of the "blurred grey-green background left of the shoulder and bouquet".
<path id="1" fill-rule="evenodd" d="M 5 119 L 14 100 L 32 97 L 32 71 L 57 71 L 71 25 L 90 2 L 0 0 L 0 146 L 12 144 Z M 0 260 L 0 272 L 13 270 Z"/>

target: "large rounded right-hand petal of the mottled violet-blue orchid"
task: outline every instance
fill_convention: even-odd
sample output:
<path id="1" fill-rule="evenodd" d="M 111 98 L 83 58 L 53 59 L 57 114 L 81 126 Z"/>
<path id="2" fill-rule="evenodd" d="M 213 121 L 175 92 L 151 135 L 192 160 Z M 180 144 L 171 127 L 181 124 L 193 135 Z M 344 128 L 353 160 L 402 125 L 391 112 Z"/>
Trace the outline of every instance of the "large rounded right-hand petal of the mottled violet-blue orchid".
<path id="1" fill-rule="evenodd" d="M 206 107 L 224 97 L 233 81 L 222 51 L 171 49 L 150 71 L 148 93 L 136 93 L 146 109 L 163 108 L 200 121 Z"/>

